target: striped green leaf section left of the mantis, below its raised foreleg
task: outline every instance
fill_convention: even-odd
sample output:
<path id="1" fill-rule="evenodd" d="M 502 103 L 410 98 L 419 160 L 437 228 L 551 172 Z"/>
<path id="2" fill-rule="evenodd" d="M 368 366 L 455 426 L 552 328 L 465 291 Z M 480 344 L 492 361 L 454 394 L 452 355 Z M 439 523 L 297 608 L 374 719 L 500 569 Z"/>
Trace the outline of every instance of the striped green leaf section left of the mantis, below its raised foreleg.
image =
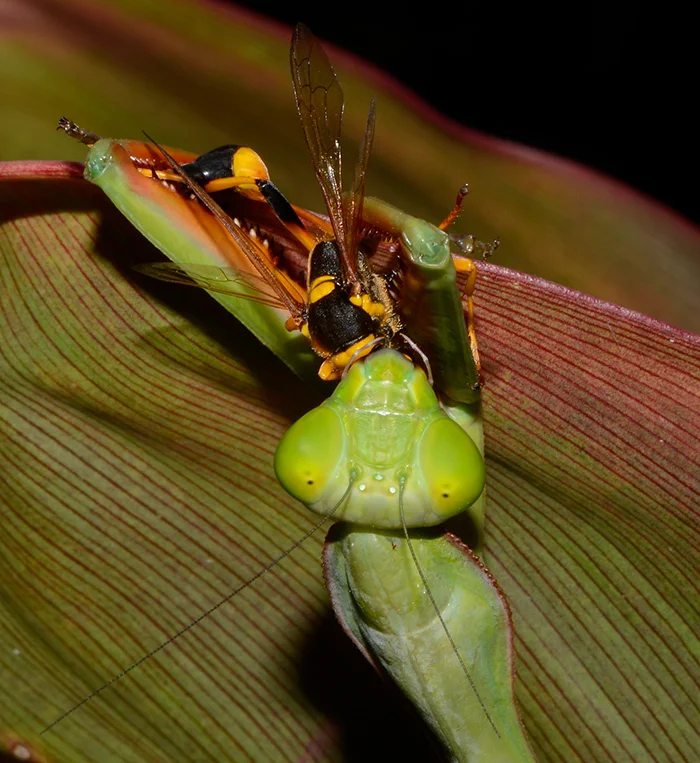
<path id="1" fill-rule="evenodd" d="M 188 290 L 182 314 L 122 275 L 117 264 L 144 244 L 99 191 L 0 187 L 12 687 L 0 723 L 38 744 L 45 725 L 308 528 L 272 472 L 308 395 L 205 295 Z M 80 211 L 57 211 L 66 195 Z M 47 753 L 235 759 L 235 741 L 259 760 L 296 757 L 325 733 L 295 678 L 325 601 L 321 540 L 50 732 Z"/>

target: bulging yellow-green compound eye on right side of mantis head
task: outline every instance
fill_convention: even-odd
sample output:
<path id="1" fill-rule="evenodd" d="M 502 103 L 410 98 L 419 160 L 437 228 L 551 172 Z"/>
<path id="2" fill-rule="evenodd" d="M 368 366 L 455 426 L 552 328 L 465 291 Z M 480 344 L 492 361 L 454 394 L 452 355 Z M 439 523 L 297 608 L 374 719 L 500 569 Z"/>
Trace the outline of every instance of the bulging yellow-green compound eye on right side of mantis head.
<path id="1" fill-rule="evenodd" d="M 428 425 L 418 445 L 418 467 L 433 510 L 447 519 L 481 495 L 486 471 L 474 441 L 452 419 Z"/>

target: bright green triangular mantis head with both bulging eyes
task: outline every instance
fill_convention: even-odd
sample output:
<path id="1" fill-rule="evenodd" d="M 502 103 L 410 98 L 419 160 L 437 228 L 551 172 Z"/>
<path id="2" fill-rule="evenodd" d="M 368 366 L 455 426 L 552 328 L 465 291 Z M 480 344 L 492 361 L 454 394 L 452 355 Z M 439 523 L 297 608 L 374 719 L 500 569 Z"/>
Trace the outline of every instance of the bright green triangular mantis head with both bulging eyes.
<path id="1" fill-rule="evenodd" d="M 484 486 L 484 461 L 422 370 L 395 350 L 355 363 L 335 392 L 286 433 L 283 487 L 312 511 L 372 527 L 444 522 Z"/>

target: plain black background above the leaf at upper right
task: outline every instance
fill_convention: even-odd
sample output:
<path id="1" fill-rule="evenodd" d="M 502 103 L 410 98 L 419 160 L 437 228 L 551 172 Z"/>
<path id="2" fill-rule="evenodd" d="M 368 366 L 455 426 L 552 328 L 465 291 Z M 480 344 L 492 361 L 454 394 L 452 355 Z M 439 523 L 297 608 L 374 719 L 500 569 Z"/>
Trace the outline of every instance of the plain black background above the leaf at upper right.
<path id="1" fill-rule="evenodd" d="M 421 16 L 365 0 L 239 4 L 303 21 L 457 122 L 595 167 L 700 223 L 698 42 L 670 4 L 643 15 L 423 0 Z"/>

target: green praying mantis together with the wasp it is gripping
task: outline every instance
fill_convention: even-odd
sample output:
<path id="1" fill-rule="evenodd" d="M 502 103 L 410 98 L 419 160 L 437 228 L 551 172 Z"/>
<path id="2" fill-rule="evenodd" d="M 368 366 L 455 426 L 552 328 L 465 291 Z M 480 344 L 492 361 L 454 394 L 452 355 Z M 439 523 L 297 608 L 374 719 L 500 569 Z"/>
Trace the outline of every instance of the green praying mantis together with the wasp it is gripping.
<path id="1" fill-rule="evenodd" d="M 305 27 L 291 59 L 330 223 L 294 208 L 239 147 L 223 165 L 220 154 L 219 164 L 200 161 L 195 174 L 196 158 L 63 126 L 91 147 L 86 177 L 171 259 L 150 275 L 207 289 L 300 375 L 320 356 L 321 377 L 339 380 L 285 435 L 274 467 L 291 495 L 342 520 L 323 564 L 350 638 L 411 698 L 452 759 L 534 760 L 513 695 L 507 603 L 475 551 L 436 527 L 468 512 L 482 552 L 473 264 L 456 260 L 470 279 L 465 324 L 447 233 L 365 198 L 374 107 L 344 195 L 337 77 Z M 235 192 L 240 219 L 215 200 L 220 190 Z M 280 264 L 263 242 L 282 238 Z M 373 241 L 399 272 L 373 269 L 376 252 L 360 249 Z M 304 285 L 290 275 L 295 252 L 310 263 Z"/>

